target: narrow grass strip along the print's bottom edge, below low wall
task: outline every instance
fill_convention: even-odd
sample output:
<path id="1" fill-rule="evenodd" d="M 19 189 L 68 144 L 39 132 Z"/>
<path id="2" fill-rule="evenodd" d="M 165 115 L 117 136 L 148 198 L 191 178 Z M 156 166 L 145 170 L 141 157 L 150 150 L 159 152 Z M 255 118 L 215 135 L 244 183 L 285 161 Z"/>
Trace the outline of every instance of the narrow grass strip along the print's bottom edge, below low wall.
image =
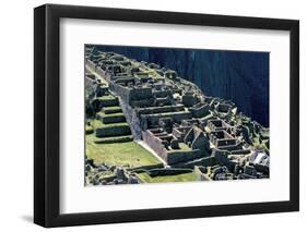
<path id="1" fill-rule="evenodd" d="M 146 172 L 139 173 L 138 176 L 144 183 L 166 183 L 166 182 L 190 182 L 197 181 L 197 175 L 193 172 L 176 174 L 176 175 L 157 175 L 150 176 Z"/>

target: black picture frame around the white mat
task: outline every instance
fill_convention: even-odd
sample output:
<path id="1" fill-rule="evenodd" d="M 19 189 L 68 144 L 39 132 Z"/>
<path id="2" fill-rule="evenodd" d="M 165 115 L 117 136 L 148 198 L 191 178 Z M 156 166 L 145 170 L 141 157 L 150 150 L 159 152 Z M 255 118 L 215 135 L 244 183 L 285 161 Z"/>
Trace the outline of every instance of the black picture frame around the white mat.
<path id="1" fill-rule="evenodd" d="M 288 30 L 290 200 L 217 206 L 61 215 L 60 206 L 60 19 L 109 20 L 178 25 Z M 263 17 L 45 4 L 34 9 L 34 222 L 66 227 L 215 216 L 297 211 L 299 209 L 299 22 Z"/>

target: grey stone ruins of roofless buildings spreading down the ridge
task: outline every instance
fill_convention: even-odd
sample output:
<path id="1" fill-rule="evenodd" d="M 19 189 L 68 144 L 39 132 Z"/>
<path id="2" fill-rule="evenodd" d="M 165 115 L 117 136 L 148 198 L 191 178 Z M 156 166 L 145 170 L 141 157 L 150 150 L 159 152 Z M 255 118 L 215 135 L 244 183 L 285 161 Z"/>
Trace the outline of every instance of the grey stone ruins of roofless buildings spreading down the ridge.
<path id="1" fill-rule="evenodd" d="M 96 47 L 86 48 L 85 61 L 85 78 L 96 86 L 87 96 L 86 112 L 98 113 L 102 107 L 95 102 L 110 93 L 133 138 L 151 147 L 165 168 L 192 168 L 200 180 L 269 178 L 269 129 L 244 115 L 234 102 L 205 96 L 176 71 L 155 63 Z M 133 173 L 122 173 L 120 183 L 138 183 Z"/>

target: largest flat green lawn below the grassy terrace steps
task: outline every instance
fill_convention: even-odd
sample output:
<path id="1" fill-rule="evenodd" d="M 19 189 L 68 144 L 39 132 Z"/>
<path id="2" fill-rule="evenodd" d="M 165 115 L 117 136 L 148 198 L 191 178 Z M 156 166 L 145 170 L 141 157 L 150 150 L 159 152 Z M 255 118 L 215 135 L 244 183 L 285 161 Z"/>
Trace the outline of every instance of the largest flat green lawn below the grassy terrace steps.
<path id="1" fill-rule="evenodd" d="M 97 164 L 137 168 L 160 163 L 151 152 L 135 142 L 95 144 L 94 139 L 96 139 L 94 135 L 86 135 L 86 156 L 94 159 Z"/>

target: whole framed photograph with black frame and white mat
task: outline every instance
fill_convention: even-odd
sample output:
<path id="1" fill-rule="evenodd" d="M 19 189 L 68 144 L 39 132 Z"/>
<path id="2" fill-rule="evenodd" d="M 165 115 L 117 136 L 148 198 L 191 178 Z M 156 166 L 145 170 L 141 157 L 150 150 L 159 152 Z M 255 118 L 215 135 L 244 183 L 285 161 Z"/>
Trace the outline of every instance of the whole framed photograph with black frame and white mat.
<path id="1" fill-rule="evenodd" d="M 34 10 L 34 222 L 299 209 L 299 22 Z"/>

